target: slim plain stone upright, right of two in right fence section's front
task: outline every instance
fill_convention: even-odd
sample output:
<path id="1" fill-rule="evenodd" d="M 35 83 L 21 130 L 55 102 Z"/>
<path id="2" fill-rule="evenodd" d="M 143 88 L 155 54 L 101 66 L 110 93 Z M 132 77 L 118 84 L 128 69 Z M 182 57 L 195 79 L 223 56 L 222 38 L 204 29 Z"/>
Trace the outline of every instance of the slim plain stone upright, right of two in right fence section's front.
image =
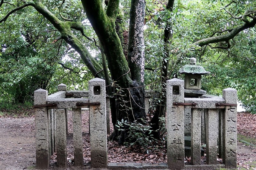
<path id="1" fill-rule="evenodd" d="M 206 111 L 206 163 L 217 164 L 218 109 Z"/>

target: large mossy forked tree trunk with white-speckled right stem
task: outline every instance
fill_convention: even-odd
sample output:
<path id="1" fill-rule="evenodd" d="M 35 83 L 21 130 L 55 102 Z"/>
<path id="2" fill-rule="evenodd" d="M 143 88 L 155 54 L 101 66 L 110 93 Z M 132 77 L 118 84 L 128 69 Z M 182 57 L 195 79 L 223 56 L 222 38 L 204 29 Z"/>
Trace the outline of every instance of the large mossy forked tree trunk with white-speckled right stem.
<path id="1" fill-rule="evenodd" d="M 116 15 L 119 1 L 110 0 L 104 11 L 100 0 L 82 0 L 86 15 L 99 37 L 108 61 L 108 69 L 115 86 L 116 119 L 112 122 L 127 119 L 133 122 L 145 118 L 144 90 L 144 0 L 132 0 L 130 12 L 130 39 L 128 62 L 124 56 L 120 38 L 116 33 Z M 114 114 L 113 114 L 114 115 Z M 125 142 L 126 132 L 114 130 L 110 138 L 118 137 L 119 144 Z"/>

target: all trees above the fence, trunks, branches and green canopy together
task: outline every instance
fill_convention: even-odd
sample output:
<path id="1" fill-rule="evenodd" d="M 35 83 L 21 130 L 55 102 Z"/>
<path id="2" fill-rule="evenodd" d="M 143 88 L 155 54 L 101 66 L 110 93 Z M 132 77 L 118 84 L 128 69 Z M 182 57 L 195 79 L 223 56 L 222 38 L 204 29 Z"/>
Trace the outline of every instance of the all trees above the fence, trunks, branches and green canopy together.
<path id="1" fill-rule="evenodd" d="M 114 125 L 148 118 L 157 130 L 166 80 L 182 78 L 178 70 L 193 56 L 212 72 L 204 89 L 232 86 L 246 107 L 255 105 L 255 1 L 1 0 L 0 9 L 0 89 L 15 84 L 19 92 L 26 80 L 32 90 L 61 81 L 83 89 L 103 78 Z M 154 93 L 148 117 L 145 88 Z M 123 143 L 126 133 L 116 128 L 111 138 Z"/>

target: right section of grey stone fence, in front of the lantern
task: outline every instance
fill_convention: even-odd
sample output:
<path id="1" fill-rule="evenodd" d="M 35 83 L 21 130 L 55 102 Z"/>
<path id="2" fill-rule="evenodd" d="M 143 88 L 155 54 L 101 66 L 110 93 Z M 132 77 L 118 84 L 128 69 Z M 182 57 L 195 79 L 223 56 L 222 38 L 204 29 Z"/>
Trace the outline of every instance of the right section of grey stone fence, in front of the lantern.
<path id="1" fill-rule="evenodd" d="M 227 88 L 223 97 L 184 98 L 184 81 L 167 81 L 167 160 L 169 169 L 236 168 L 237 91 Z M 191 109 L 191 162 L 184 164 L 184 113 Z M 201 165 L 201 115 L 206 113 L 206 163 Z M 222 135 L 219 132 L 222 132 Z M 217 140 L 223 164 L 217 165 Z M 221 149 L 220 149 L 221 148 Z"/>

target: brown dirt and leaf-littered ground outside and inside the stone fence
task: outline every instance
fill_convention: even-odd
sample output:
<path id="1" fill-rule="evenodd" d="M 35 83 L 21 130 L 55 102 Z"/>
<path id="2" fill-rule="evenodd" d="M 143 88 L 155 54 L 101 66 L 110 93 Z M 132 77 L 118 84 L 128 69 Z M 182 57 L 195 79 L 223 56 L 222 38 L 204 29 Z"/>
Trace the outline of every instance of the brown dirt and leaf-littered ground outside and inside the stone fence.
<path id="1" fill-rule="evenodd" d="M 67 157 L 68 168 L 77 169 L 73 165 L 73 141 L 72 141 L 72 114 L 68 113 Z M 250 122 L 248 126 L 246 123 Z M 88 111 L 82 114 L 84 164 L 90 166 L 90 138 L 88 133 Z M 238 114 L 238 133 L 255 139 L 256 115 L 249 113 Z M 113 129 L 113 127 L 111 128 Z M 164 145 L 164 143 L 163 143 Z M 238 169 L 256 169 L 256 148 L 238 143 L 237 164 Z M 21 170 L 35 169 L 35 122 L 34 117 L 6 118 L 0 117 L 0 169 Z M 134 149 L 118 146 L 115 142 L 108 141 L 109 162 L 137 162 L 137 163 L 166 163 L 166 151 L 164 146 L 159 146 L 158 151 L 150 151 L 148 154 L 135 153 Z M 187 159 L 189 161 L 189 159 Z M 49 169 L 56 167 L 56 155 L 52 156 Z"/>

